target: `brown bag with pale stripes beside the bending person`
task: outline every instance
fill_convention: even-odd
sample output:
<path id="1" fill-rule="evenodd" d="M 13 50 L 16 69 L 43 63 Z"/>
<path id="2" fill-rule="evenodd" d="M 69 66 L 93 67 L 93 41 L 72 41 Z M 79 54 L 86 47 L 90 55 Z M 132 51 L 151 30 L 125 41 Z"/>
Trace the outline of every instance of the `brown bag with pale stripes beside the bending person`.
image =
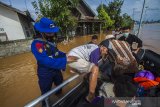
<path id="1" fill-rule="evenodd" d="M 138 63 L 125 41 L 111 40 L 113 52 L 109 52 L 109 56 L 113 58 L 115 64 L 123 66 L 124 69 L 129 69 L 126 73 L 138 72 Z"/>

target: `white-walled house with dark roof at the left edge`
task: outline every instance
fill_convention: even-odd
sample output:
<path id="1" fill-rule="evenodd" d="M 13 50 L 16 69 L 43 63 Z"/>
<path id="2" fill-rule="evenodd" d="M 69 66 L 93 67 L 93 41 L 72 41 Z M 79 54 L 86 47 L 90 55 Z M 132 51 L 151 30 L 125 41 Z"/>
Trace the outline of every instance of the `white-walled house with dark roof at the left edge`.
<path id="1" fill-rule="evenodd" d="M 0 2 L 0 41 L 27 39 L 34 35 L 33 19 L 23 12 Z"/>

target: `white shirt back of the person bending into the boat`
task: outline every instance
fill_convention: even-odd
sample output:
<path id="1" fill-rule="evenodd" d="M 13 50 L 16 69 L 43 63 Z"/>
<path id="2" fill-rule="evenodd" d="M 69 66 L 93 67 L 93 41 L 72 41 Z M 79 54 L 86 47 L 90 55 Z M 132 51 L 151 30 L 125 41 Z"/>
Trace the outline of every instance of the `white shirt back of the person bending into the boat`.
<path id="1" fill-rule="evenodd" d="M 78 47 L 73 48 L 69 53 L 68 56 L 76 56 L 81 59 L 85 59 L 89 61 L 89 57 L 92 51 L 97 49 L 98 46 L 95 44 L 85 44 Z"/>

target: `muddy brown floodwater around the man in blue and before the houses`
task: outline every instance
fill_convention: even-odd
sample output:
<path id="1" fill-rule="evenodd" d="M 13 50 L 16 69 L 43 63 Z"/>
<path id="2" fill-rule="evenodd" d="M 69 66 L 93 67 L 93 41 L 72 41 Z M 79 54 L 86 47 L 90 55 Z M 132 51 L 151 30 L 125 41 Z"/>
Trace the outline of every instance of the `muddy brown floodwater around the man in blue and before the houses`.
<path id="1" fill-rule="evenodd" d="M 90 35 L 76 37 L 68 44 L 58 44 L 58 48 L 68 52 L 89 42 L 90 39 Z M 99 41 L 103 39 L 104 35 L 99 35 Z M 31 52 L 0 59 L 0 107 L 23 107 L 40 96 L 36 67 L 36 60 Z M 63 75 L 64 79 L 67 79 L 74 74 L 67 68 Z M 80 79 L 64 87 L 63 93 L 65 94 L 79 81 Z"/>

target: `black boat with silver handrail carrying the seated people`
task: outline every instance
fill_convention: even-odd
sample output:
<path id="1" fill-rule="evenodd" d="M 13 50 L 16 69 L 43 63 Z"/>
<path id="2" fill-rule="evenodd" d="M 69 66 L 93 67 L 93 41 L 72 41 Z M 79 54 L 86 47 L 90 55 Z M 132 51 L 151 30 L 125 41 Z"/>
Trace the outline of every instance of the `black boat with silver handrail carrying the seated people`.
<path id="1" fill-rule="evenodd" d="M 160 55 L 159 54 L 149 49 L 141 49 L 138 53 L 138 57 L 140 59 L 139 64 L 143 64 L 145 70 L 149 70 L 154 75 L 160 76 Z M 74 75 L 73 77 L 64 81 L 61 85 L 50 90 L 46 94 L 38 97 L 32 102 L 26 104 L 25 107 L 34 107 L 36 104 L 40 103 L 43 100 L 45 100 L 45 102 L 47 103 L 46 107 L 83 107 L 84 104 L 87 104 L 87 102 L 85 101 L 85 96 L 88 93 L 88 84 L 89 84 L 88 75 L 89 74 L 85 74 L 83 81 L 81 81 L 77 86 L 71 89 L 66 95 L 64 95 L 54 104 L 49 104 L 48 97 L 53 95 L 57 90 L 61 89 L 68 83 L 80 77 L 79 74 Z M 96 88 L 97 96 L 98 96 L 100 86 L 105 81 L 106 80 L 98 79 L 98 84 Z"/>

